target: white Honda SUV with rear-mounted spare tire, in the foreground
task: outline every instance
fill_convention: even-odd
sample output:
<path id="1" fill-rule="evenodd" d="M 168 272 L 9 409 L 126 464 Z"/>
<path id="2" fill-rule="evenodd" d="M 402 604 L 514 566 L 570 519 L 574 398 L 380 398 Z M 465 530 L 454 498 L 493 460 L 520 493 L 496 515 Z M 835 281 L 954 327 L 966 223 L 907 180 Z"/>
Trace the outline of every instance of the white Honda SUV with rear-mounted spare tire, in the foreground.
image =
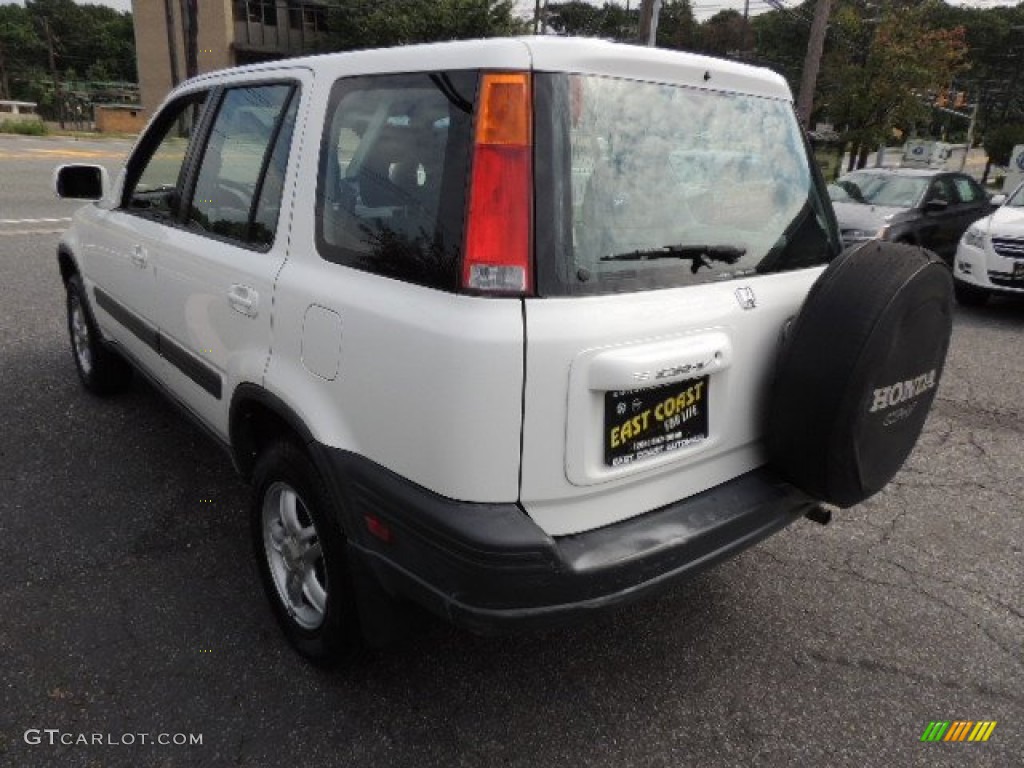
<path id="1" fill-rule="evenodd" d="M 140 371 L 224 446 L 273 612 L 322 663 L 402 600 L 561 622 L 825 521 L 903 462 L 949 339 L 933 256 L 840 255 L 785 81 L 687 53 L 213 73 L 113 185 L 56 187 L 98 199 L 57 254 L 79 378 Z"/>

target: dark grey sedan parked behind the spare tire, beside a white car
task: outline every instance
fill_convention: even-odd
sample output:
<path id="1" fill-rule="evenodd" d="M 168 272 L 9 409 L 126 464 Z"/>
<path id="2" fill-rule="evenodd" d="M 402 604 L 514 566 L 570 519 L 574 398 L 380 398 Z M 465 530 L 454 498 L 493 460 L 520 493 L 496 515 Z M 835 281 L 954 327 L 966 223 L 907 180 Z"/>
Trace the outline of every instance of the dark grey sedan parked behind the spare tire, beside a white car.
<path id="1" fill-rule="evenodd" d="M 865 168 L 828 185 L 843 244 L 911 243 L 952 264 L 964 230 L 992 210 L 988 195 L 964 173 Z"/>

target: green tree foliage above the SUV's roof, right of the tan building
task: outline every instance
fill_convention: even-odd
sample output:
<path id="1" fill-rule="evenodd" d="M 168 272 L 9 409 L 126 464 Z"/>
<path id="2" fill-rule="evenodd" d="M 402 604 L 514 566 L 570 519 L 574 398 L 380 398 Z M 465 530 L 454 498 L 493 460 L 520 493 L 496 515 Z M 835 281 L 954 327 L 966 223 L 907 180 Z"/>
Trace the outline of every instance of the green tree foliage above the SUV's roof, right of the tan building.
<path id="1" fill-rule="evenodd" d="M 512 0 L 347 0 L 331 14 L 331 48 L 353 50 L 521 35 Z"/>

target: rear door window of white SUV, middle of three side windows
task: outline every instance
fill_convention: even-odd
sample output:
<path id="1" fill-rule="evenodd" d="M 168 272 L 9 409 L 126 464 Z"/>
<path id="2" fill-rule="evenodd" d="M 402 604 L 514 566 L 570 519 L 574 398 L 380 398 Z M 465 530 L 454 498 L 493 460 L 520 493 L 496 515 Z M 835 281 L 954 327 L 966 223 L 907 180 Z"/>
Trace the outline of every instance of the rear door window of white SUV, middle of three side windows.
<path id="1" fill-rule="evenodd" d="M 284 84 L 224 93 L 200 163 L 188 210 L 190 227 L 258 246 L 273 242 L 289 145 L 278 139 L 291 137 L 290 128 L 282 129 L 291 94 L 292 86 Z M 294 112 L 291 116 L 294 121 Z M 278 150 L 271 158 L 274 142 Z M 262 189 L 267 195 L 256 206 Z"/>

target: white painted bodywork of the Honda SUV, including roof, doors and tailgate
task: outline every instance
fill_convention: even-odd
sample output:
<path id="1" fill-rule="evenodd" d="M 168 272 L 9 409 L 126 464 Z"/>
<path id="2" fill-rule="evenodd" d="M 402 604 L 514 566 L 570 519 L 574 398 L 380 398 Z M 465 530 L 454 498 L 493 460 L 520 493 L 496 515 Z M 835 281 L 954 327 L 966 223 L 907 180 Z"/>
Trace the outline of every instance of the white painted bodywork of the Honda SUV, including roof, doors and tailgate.
<path id="1" fill-rule="evenodd" d="M 757 425 L 779 333 L 818 269 L 671 291 L 528 300 L 524 346 L 518 300 L 412 286 L 329 264 L 316 254 L 317 155 L 337 78 L 531 67 L 790 97 L 781 78 L 742 65 L 550 38 L 359 51 L 203 76 L 185 90 L 285 75 L 303 82 L 271 251 L 153 222 L 143 226 L 139 217 L 102 206 L 84 216 L 99 228 L 104 217 L 120 217 L 122 231 L 101 238 L 108 255 L 100 282 L 116 285 L 112 265 L 128 261 L 130 246 L 141 243 L 157 267 L 159 290 L 119 287 L 119 295 L 156 313 L 165 333 L 224 376 L 223 399 L 215 402 L 165 364 L 156 370 L 172 390 L 226 435 L 234 387 L 262 383 L 322 442 L 452 499 L 515 502 L 521 496 L 553 535 L 641 514 L 758 466 Z M 123 179 L 122 173 L 112 197 Z M 757 309 L 739 308 L 734 291 L 741 286 L 754 288 Z M 616 377 L 631 375 L 634 365 L 679 365 L 709 351 L 721 353 L 711 374 L 709 439 L 626 468 L 603 467 L 605 388 L 617 386 Z"/>

